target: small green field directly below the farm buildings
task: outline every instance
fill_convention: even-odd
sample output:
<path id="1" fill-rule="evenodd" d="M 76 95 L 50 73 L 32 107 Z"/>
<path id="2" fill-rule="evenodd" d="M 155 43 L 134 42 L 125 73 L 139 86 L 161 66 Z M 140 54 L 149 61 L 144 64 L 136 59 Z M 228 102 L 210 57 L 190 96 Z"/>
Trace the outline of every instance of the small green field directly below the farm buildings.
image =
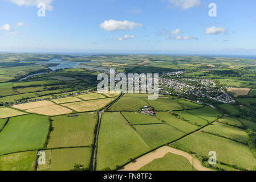
<path id="1" fill-rule="evenodd" d="M 131 123 L 131 125 L 140 125 L 140 124 L 148 124 L 148 123 L 161 123 L 159 119 L 156 117 L 152 117 L 151 115 L 140 114 L 140 113 L 132 113 L 132 112 L 123 112 L 122 113 L 125 118 Z"/>

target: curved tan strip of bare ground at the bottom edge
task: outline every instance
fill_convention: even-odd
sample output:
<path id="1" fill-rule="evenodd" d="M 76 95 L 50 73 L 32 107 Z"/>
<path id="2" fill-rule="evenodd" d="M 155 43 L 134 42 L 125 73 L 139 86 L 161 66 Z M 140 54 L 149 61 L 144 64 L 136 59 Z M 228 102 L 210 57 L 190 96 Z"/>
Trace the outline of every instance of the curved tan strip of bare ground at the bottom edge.
<path id="1" fill-rule="evenodd" d="M 167 154 L 168 152 L 171 152 L 176 155 L 184 156 L 186 159 L 189 160 L 190 164 L 192 164 L 192 166 L 194 166 L 194 168 L 196 168 L 198 171 L 213 171 L 212 169 L 202 166 L 200 161 L 196 158 L 193 158 L 192 155 L 168 146 L 161 147 L 156 151 L 153 151 L 153 152 L 150 152 L 149 154 L 141 156 L 141 158 L 137 159 L 136 162 L 134 163 L 131 162 L 127 164 L 127 166 L 125 166 L 124 169 L 121 169 L 120 171 L 137 171 L 143 166 L 145 166 L 146 164 L 152 162 L 154 159 L 163 158 L 165 154 Z"/>

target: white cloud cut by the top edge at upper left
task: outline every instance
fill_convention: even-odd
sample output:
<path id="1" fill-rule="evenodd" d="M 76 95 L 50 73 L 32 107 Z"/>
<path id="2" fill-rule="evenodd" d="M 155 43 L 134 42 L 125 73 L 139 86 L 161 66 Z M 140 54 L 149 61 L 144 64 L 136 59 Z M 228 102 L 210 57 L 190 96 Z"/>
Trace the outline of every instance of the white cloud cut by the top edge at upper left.
<path id="1" fill-rule="evenodd" d="M 44 3 L 46 5 L 46 10 L 51 11 L 51 3 L 53 0 L 9 0 L 18 6 L 37 6 L 39 3 Z"/>

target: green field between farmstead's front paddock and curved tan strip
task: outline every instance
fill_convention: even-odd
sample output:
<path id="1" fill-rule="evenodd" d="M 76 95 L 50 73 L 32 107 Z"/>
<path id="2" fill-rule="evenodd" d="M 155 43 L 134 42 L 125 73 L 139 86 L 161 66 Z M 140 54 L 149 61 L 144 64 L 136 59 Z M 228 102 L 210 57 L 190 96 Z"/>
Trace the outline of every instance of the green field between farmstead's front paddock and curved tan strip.
<path id="1" fill-rule="evenodd" d="M 174 127 L 159 125 L 137 125 L 134 126 L 136 132 L 145 140 L 149 147 L 156 148 L 163 144 L 170 143 L 173 140 L 182 137 L 184 133 L 174 129 Z"/>

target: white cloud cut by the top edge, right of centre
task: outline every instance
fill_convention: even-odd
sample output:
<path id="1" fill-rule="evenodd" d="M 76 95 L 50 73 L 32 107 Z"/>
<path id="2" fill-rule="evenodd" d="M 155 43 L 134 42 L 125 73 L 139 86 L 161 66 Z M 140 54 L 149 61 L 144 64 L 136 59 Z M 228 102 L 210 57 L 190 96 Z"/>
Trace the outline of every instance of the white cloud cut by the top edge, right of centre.
<path id="1" fill-rule="evenodd" d="M 187 10 L 201 5 L 201 0 L 169 0 L 168 2 L 172 4 L 172 6 L 168 6 L 169 8 L 177 7 L 181 10 Z"/>

